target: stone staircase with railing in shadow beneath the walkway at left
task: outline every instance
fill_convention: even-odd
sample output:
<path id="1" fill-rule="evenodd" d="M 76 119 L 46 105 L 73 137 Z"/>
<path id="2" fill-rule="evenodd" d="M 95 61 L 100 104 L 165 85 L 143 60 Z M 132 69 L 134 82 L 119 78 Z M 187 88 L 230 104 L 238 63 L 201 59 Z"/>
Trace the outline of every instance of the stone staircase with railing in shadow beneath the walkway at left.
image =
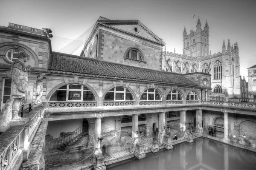
<path id="1" fill-rule="evenodd" d="M 58 150 L 65 151 L 68 146 L 76 144 L 76 142 L 85 136 L 85 133 L 82 131 L 83 126 L 77 128 L 73 131 L 72 134 L 69 134 L 63 137 L 61 140 L 58 141 Z"/>

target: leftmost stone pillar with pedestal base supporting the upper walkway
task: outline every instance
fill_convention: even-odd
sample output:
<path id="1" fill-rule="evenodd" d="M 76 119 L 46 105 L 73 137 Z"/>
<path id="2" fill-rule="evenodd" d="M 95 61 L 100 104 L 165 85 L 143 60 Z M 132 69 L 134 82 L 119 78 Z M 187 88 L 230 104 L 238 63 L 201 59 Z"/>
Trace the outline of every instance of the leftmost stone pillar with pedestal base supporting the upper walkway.
<path id="1" fill-rule="evenodd" d="M 93 167 L 94 170 L 106 170 L 104 163 L 104 156 L 100 150 L 100 134 L 101 134 L 101 119 L 102 116 L 96 117 L 95 121 L 95 140 L 94 140 L 94 149 L 93 149 Z"/>

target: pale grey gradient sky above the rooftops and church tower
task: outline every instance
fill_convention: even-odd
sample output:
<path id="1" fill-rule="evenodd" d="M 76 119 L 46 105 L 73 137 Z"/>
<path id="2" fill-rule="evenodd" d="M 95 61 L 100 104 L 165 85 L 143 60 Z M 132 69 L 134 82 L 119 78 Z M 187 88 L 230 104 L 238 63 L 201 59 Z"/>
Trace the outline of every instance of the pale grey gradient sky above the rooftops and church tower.
<path id="1" fill-rule="evenodd" d="M 80 55 L 99 16 L 140 20 L 163 39 L 166 51 L 182 54 L 183 29 L 195 31 L 195 14 L 202 29 L 208 22 L 211 54 L 222 51 L 223 40 L 226 46 L 228 39 L 238 42 L 240 73 L 247 79 L 247 68 L 256 64 L 255 9 L 256 0 L 0 0 L 0 26 L 50 28 L 52 51 Z M 74 52 L 67 49 L 73 40 L 81 41 Z"/>

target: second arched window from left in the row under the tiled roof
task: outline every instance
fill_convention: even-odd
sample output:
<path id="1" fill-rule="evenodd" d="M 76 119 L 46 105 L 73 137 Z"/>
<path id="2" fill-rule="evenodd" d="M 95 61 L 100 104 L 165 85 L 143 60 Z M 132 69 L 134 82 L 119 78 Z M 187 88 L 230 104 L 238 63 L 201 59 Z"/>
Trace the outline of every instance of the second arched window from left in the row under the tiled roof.
<path id="1" fill-rule="evenodd" d="M 134 98 L 127 88 L 112 88 L 104 97 L 104 101 L 133 101 Z"/>

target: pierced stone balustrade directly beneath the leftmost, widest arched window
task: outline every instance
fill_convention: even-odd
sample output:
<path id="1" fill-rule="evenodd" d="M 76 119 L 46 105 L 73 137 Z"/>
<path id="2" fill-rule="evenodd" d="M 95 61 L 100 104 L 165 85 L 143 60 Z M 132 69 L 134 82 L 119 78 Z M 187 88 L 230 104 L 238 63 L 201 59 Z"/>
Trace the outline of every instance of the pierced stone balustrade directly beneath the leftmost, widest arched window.
<path id="1" fill-rule="evenodd" d="M 93 107 L 96 102 L 48 102 L 48 108 Z"/>

